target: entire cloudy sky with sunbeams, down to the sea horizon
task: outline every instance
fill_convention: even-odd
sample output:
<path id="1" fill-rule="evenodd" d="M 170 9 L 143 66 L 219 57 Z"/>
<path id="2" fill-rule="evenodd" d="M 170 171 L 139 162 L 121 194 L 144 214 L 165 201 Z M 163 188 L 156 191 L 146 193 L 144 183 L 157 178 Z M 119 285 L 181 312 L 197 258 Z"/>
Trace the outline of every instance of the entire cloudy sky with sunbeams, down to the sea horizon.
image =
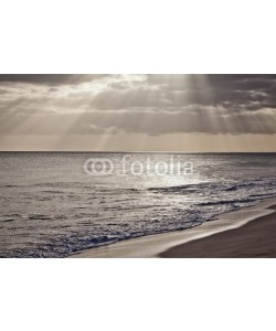
<path id="1" fill-rule="evenodd" d="M 276 75 L 0 75 L 0 150 L 276 151 Z"/>

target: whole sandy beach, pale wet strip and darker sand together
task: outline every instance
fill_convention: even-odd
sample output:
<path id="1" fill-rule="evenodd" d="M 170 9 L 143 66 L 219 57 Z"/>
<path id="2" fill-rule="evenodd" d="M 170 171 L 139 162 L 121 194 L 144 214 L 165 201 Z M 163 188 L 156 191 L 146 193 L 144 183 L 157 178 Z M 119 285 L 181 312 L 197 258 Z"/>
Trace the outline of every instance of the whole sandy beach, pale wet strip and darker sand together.
<path id="1" fill-rule="evenodd" d="M 276 199 L 225 213 L 217 220 L 179 232 L 118 242 L 72 254 L 106 257 L 275 257 Z"/>

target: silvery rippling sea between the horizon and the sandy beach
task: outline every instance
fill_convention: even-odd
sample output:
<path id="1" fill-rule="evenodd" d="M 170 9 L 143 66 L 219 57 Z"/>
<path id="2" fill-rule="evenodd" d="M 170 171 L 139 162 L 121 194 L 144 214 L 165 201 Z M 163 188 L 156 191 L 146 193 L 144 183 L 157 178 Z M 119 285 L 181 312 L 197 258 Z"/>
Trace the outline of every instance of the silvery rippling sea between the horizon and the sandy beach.
<path id="1" fill-rule="evenodd" d="M 114 168 L 88 175 L 87 159 Z M 197 226 L 276 196 L 275 169 L 275 153 L 1 152 L 0 257 L 64 257 Z"/>

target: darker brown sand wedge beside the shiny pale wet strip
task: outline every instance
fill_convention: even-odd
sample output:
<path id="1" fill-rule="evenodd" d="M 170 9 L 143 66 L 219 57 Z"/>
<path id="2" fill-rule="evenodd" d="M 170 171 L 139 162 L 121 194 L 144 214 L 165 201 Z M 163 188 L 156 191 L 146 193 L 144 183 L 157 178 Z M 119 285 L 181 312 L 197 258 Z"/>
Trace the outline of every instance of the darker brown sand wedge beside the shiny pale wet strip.
<path id="1" fill-rule="evenodd" d="M 160 257 L 276 257 L 276 204 L 272 214 L 240 228 L 178 245 Z"/>

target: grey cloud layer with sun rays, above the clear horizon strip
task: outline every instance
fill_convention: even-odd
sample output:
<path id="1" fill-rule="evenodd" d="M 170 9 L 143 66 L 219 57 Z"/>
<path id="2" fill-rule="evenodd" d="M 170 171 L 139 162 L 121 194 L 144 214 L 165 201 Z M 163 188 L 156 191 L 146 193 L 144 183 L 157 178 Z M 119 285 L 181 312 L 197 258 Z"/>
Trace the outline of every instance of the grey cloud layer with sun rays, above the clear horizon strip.
<path id="1" fill-rule="evenodd" d="M 276 75 L 0 75 L 0 134 L 276 134 Z"/>

